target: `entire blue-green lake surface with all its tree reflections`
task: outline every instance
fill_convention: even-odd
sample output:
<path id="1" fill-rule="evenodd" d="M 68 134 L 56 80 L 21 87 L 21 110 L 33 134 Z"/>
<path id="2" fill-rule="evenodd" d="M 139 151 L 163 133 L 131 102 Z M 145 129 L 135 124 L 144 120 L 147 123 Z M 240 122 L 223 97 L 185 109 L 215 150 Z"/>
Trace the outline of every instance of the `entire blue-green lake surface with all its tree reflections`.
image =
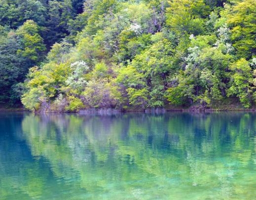
<path id="1" fill-rule="evenodd" d="M 0 113 L 0 200 L 255 199 L 254 113 Z"/>

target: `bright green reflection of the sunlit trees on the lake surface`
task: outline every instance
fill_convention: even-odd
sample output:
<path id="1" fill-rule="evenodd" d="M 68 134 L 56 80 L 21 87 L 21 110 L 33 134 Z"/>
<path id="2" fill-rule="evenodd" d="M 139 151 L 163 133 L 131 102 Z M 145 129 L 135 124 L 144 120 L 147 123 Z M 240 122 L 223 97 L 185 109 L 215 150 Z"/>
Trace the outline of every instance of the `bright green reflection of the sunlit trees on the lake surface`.
<path id="1" fill-rule="evenodd" d="M 125 181 L 151 177 L 166 190 L 211 186 L 229 198 L 245 194 L 235 190 L 236 171 L 255 165 L 255 122 L 253 113 L 31 114 L 22 130 L 32 155 L 65 184 L 92 192 L 118 180 L 129 192 Z"/>

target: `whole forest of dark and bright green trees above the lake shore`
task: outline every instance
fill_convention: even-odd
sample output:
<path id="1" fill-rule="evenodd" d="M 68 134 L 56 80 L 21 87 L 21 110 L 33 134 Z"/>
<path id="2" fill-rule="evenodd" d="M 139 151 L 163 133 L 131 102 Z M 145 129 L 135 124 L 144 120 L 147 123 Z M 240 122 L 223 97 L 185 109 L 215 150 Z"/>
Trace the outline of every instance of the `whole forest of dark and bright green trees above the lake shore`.
<path id="1" fill-rule="evenodd" d="M 256 0 L 1 0 L 0 105 L 256 105 Z"/>

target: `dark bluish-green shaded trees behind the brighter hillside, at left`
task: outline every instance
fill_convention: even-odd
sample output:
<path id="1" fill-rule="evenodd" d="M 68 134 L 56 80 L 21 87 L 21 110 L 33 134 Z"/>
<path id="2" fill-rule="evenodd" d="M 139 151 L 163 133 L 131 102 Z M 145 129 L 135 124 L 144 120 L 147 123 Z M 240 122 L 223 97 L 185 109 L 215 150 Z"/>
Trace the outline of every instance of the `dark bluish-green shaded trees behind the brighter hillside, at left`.
<path id="1" fill-rule="evenodd" d="M 0 1 L 0 103 L 15 105 L 20 101 L 19 83 L 29 68 L 41 65 L 55 42 L 70 35 L 68 23 L 82 12 L 82 2 Z"/>

